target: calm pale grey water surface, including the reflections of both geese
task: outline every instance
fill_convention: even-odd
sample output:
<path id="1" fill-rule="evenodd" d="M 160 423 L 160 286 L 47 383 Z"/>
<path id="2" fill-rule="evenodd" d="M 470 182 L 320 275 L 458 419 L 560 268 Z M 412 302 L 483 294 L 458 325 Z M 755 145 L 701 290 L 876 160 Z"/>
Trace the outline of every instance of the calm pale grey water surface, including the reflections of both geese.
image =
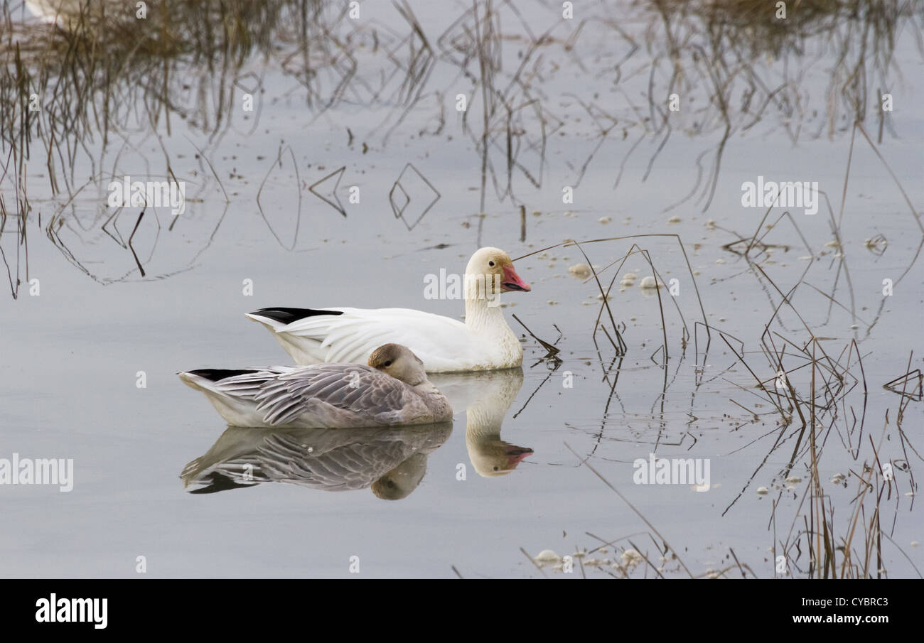
<path id="1" fill-rule="evenodd" d="M 360 576 L 579 577 L 540 571 L 520 548 L 563 555 L 602 539 L 615 542 L 588 558 L 607 562 L 584 573 L 621 576 L 624 549 L 658 564 L 663 537 L 697 576 L 735 565 L 732 551 L 755 576 L 773 576 L 784 553 L 789 574 L 818 576 L 794 547 L 811 505 L 814 335 L 834 545 L 865 477 L 884 490 L 882 576 L 918 576 L 924 523 L 908 469 L 924 446 L 920 384 L 883 384 L 924 357 L 922 16 L 807 8 L 780 26 L 657 5 L 577 7 L 569 20 L 556 3 L 495 3 L 490 16 L 478 3 L 477 19 L 467 3 L 363 3 L 352 19 L 270 3 L 242 17 L 246 39 L 205 36 L 177 9 L 169 38 L 149 33 L 162 24 L 152 16 L 138 48 L 101 41 L 90 69 L 92 55 L 61 52 L 106 31 L 55 29 L 5 3 L 6 26 L 32 42 L 34 87 L 42 69 L 69 79 L 57 98 L 54 83 L 39 91 L 28 126 L 15 69 L 0 86 L 16 115 L 4 117 L 0 178 L 0 457 L 72 458 L 75 480 L 67 493 L 0 487 L 0 575 L 137 576 L 144 556 L 150 576 L 339 577 L 359 556 Z M 708 24 L 721 25 L 712 39 Z M 91 95 L 68 66 L 94 79 Z M 877 91 L 894 100 L 882 125 Z M 114 178 L 169 173 L 186 182 L 176 220 L 107 205 Z M 758 176 L 818 182 L 818 213 L 742 207 Z M 424 297 L 425 280 L 461 273 L 480 246 L 517 258 L 628 236 L 642 237 L 584 244 L 590 261 L 571 246 L 516 262 L 532 285 L 504 298 L 522 371 L 441 376 L 452 426 L 228 429 L 176 378 L 288 363 L 244 317 L 253 309 L 460 317 L 461 301 Z M 677 280 L 675 296 L 660 291 L 664 328 L 659 297 L 638 287 L 652 274 L 644 256 L 611 265 L 633 243 Z M 597 285 L 569 272 L 583 263 L 604 288 L 615 277 L 621 357 Z M 620 285 L 626 273 L 638 280 Z M 808 431 L 774 386 L 775 355 Z M 844 385 L 825 393 L 833 371 Z M 878 469 L 873 445 L 894 479 L 864 473 Z M 652 453 L 708 459 L 709 491 L 634 484 L 633 462 Z M 873 495 L 850 545 L 867 576 Z M 627 571 L 655 575 L 646 567 Z M 687 575 L 675 561 L 663 573 Z"/>

